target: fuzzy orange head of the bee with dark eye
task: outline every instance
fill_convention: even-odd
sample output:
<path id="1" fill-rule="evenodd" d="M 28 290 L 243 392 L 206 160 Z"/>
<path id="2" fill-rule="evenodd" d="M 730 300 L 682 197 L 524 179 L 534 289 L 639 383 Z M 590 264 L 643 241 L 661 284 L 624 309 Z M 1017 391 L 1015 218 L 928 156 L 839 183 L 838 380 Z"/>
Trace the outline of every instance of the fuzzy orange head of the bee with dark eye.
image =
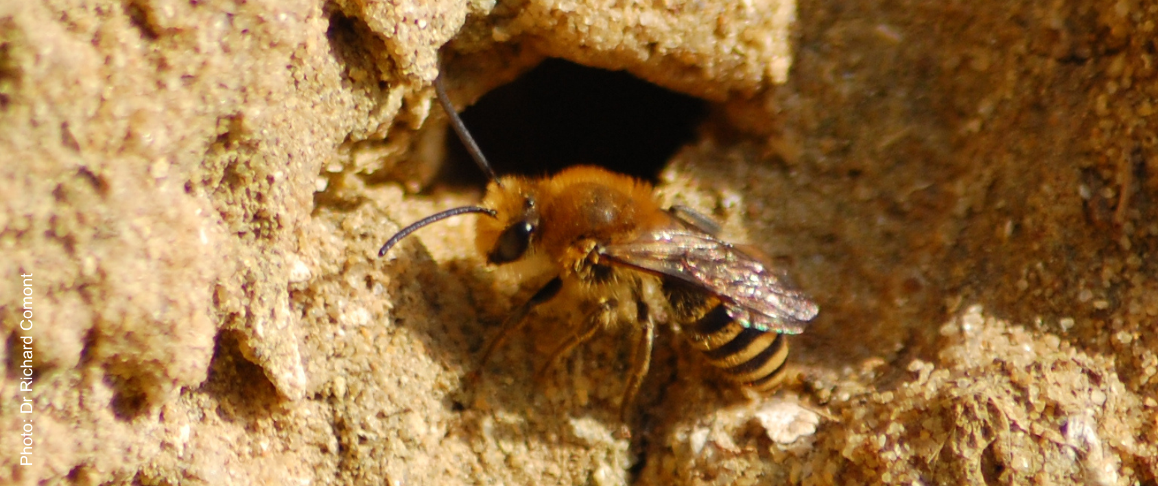
<path id="1" fill-rule="evenodd" d="M 488 186 L 483 206 L 492 208 L 494 218 L 479 220 L 475 237 L 488 263 L 512 263 L 530 250 L 540 221 L 535 189 L 532 181 L 520 177 L 503 177 Z"/>

